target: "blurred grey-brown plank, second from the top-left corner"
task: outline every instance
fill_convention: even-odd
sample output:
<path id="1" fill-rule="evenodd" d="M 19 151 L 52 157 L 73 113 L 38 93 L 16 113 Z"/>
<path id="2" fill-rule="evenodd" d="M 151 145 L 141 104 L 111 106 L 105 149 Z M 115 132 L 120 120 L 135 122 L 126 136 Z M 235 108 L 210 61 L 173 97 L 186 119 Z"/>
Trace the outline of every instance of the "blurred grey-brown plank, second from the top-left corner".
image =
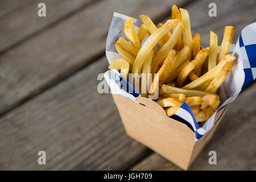
<path id="1" fill-rule="evenodd" d="M 38 16 L 38 4 L 40 2 L 46 4 L 46 17 L 39 18 Z M 93 0 L 35 0 L 12 11 L 6 16 L 0 17 L 0 24 L 5 25 L 1 26 L 0 29 L 2 32 L 0 34 L 0 52 L 22 42 L 22 40 L 73 14 L 92 2 Z M 13 3 L 8 2 L 11 5 Z M 14 4 L 16 6 L 19 5 L 16 2 Z"/>

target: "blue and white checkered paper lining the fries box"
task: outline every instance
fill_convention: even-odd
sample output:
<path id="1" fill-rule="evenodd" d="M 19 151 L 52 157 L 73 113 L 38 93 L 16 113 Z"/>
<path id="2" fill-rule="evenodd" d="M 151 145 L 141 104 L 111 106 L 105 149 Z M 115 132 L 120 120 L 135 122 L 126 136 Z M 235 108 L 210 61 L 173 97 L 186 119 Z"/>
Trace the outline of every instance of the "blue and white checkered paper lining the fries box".
<path id="1" fill-rule="evenodd" d="M 123 32 L 125 21 L 129 16 L 114 13 L 112 23 L 110 24 L 109 34 L 106 41 L 106 57 L 109 64 L 114 59 L 121 58 L 115 49 L 115 41 L 122 36 L 126 39 Z M 134 19 L 135 30 L 138 31 L 141 25 L 141 20 Z M 195 142 L 203 137 L 214 126 L 216 114 L 233 102 L 238 94 L 256 77 L 256 23 L 249 24 L 243 28 L 240 38 L 237 40 L 236 46 L 232 50 L 233 55 L 237 57 L 237 61 L 233 64 L 232 71 L 220 87 L 221 106 L 214 112 L 212 117 L 205 122 L 203 127 L 200 127 L 196 122 L 195 116 L 192 113 L 191 107 L 184 102 L 177 112 L 171 118 L 183 122 L 196 134 Z M 146 39 L 146 38 L 145 38 Z M 145 40 L 144 39 L 144 40 Z M 127 40 L 127 39 L 126 39 Z M 143 44 L 143 42 L 142 42 Z M 112 94 L 121 94 L 133 101 L 136 97 L 141 97 L 137 90 L 133 88 L 120 74 L 115 70 L 105 72 L 105 79 L 109 84 Z M 130 92 L 133 90 L 133 92 Z M 129 91 L 129 93 L 128 93 Z M 130 94 L 131 93 L 131 94 Z M 137 102 L 137 101 L 135 101 Z M 224 111 L 225 113 L 225 111 Z M 223 114 L 224 114 L 223 113 Z M 223 115 L 222 114 L 222 115 Z M 218 118 L 221 119 L 222 115 Z M 215 123 L 216 124 L 216 123 Z"/>

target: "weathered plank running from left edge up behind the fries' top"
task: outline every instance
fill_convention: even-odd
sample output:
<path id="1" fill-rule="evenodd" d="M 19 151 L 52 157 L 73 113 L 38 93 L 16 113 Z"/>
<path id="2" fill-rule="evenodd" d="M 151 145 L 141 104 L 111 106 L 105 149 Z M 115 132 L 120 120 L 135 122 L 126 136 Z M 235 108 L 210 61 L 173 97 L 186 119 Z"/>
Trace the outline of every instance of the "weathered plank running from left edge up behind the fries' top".
<path id="1" fill-rule="evenodd" d="M 181 5 L 187 1 L 108 0 L 94 3 L 5 52 L 0 56 L 0 114 L 104 55 L 114 11 L 137 18 L 139 14 L 148 14 L 152 19 L 160 19 L 170 14 L 174 2 Z M 65 6 L 61 6 L 64 9 Z M 38 18 L 38 21 L 44 20 Z"/>

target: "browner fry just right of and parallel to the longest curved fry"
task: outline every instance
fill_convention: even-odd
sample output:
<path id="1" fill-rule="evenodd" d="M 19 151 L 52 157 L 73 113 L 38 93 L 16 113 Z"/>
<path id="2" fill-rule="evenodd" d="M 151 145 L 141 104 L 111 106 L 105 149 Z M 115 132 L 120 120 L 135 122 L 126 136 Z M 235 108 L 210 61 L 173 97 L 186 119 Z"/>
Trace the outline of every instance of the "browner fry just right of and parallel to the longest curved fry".
<path id="1" fill-rule="evenodd" d="M 177 42 L 177 39 L 179 38 L 179 35 L 181 35 L 182 31 L 183 31 L 183 24 L 179 22 L 175 27 L 175 31 L 172 32 L 171 38 L 168 40 L 166 44 L 164 44 L 162 48 L 160 48 L 158 53 L 156 53 L 156 56 L 152 61 L 151 72 L 153 74 L 156 73 L 156 70 L 158 69 L 159 65 L 163 63 L 170 49 L 172 49 L 175 46 L 175 43 Z"/>

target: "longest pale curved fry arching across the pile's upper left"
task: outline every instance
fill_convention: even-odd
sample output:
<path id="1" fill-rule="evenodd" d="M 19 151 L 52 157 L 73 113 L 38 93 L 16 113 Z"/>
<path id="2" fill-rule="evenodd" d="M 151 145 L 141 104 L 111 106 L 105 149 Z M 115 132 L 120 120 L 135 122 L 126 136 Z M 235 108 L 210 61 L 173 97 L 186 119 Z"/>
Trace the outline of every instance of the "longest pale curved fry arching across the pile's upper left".
<path id="1" fill-rule="evenodd" d="M 169 19 L 167 22 L 164 24 L 163 27 L 158 28 L 153 34 L 150 35 L 150 37 L 144 42 L 142 48 L 139 50 L 139 53 L 137 57 L 134 60 L 133 64 L 133 73 L 141 73 L 141 68 L 144 63 L 144 60 L 146 56 L 148 55 L 148 52 L 154 48 L 156 43 L 164 36 L 167 34 L 168 31 L 170 31 L 173 27 L 175 27 L 178 23 L 178 20 L 172 20 Z M 159 51 L 158 51 L 159 52 Z"/>

